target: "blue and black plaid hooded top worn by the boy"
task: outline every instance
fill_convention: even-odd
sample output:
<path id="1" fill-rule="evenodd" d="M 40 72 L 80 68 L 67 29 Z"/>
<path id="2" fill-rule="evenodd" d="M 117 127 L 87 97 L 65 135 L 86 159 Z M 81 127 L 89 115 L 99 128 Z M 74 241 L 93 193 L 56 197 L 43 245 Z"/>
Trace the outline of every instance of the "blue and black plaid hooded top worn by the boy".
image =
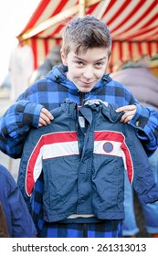
<path id="1" fill-rule="evenodd" d="M 65 75 L 67 67 L 54 67 L 42 80 L 30 86 L 17 101 L 8 108 L 0 118 L 0 149 L 13 158 L 22 154 L 26 134 L 31 126 L 38 127 L 39 114 L 42 107 L 51 111 L 69 98 L 81 104 L 86 99 L 100 99 L 117 104 L 118 107 L 136 104 L 137 110 L 130 124 L 135 127 L 138 137 L 148 155 L 158 145 L 158 112 L 152 108 L 142 107 L 132 93 L 121 83 L 111 80 L 108 74 L 95 85 L 89 93 L 80 93 L 73 82 Z M 42 183 L 41 177 L 37 180 L 32 200 L 32 215 L 37 229 L 42 229 Z"/>

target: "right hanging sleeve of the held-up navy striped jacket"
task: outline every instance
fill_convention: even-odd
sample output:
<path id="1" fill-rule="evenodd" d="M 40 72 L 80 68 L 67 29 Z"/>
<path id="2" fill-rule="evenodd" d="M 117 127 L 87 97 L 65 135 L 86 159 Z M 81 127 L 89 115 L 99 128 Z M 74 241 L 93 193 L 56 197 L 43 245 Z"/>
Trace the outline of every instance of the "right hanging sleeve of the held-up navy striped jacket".
<path id="1" fill-rule="evenodd" d="M 158 201 L 158 185 L 150 168 L 148 157 L 134 129 L 126 125 L 125 141 L 130 150 L 133 166 L 132 186 L 142 204 Z"/>

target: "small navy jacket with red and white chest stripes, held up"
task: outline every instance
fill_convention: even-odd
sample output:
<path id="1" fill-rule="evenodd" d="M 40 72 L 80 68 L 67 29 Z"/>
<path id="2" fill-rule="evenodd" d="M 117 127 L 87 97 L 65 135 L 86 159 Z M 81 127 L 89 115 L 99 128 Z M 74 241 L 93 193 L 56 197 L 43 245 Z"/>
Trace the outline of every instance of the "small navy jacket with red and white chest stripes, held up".
<path id="1" fill-rule="evenodd" d="M 158 200 L 142 144 L 132 126 L 119 122 L 122 113 L 115 109 L 101 101 L 79 108 L 67 100 L 52 111 L 50 125 L 30 131 L 18 185 L 27 198 L 42 173 L 47 222 L 72 214 L 123 219 L 124 169 L 142 203 Z"/>

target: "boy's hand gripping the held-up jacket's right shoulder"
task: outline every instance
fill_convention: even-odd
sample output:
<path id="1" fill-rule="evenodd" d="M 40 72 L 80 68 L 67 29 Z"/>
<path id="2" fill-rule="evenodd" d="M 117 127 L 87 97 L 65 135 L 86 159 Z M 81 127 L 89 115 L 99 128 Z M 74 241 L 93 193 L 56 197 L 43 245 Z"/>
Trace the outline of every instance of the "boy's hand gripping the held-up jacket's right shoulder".
<path id="1" fill-rule="evenodd" d="M 136 105 L 128 105 L 128 106 L 124 106 L 121 108 L 118 108 L 116 110 L 116 112 L 124 112 L 124 114 L 122 114 L 121 116 L 121 123 L 130 123 L 130 121 L 132 120 L 132 117 L 134 116 L 135 112 L 136 112 Z"/>

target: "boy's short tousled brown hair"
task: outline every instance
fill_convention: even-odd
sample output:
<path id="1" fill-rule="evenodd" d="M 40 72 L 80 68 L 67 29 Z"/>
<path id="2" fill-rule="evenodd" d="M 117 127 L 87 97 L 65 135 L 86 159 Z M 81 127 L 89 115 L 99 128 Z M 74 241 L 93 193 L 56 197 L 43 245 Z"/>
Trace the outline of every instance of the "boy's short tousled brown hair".
<path id="1" fill-rule="evenodd" d="M 79 49 L 109 48 L 111 55 L 111 34 L 109 28 L 95 16 L 72 19 L 62 30 L 62 52 L 68 56 L 70 50 L 79 54 Z"/>

